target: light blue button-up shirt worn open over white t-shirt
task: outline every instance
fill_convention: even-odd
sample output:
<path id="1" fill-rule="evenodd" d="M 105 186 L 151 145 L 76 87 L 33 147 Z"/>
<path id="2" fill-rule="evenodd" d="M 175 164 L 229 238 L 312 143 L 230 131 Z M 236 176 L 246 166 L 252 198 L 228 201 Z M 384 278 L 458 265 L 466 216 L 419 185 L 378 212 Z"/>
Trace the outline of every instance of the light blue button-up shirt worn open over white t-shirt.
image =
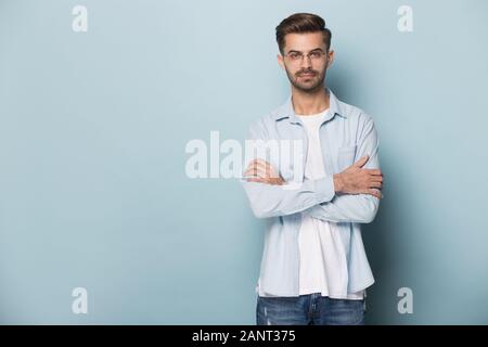
<path id="1" fill-rule="evenodd" d="M 370 158 L 363 168 L 378 169 L 378 138 L 370 115 L 328 91 L 330 112 L 319 130 L 325 177 L 305 179 L 304 156 L 299 158 L 303 160 L 299 184 L 293 189 L 241 180 L 254 215 L 267 221 L 259 285 L 271 295 L 299 295 L 298 231 L 303 214 L 336 223 L 347 258 L 348 294 L 374 283 L 362 243 L 361 223 L 373 221 L 380 200 L 370 194 L 336 194 L 333 175 L 364 155 Z M 303 153 L 307 152 L 307 136 L 293 108 L 292 95 L 282 106 L 251 125 L 248 140 L 301 140 Z M 294 177 L 294 158 L 290 158 L 291 165 L 271 162 L 287 182 Z"/>

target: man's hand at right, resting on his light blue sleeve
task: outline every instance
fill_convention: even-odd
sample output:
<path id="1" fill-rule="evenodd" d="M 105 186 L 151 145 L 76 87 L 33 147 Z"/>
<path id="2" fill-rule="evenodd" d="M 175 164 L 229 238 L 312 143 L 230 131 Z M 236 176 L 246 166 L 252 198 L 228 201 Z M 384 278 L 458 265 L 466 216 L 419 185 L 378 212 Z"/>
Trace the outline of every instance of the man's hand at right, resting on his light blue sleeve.
<path id="1" fill-rule="evenodd" d="M 383 174 L 378 169 L 364 169 L 365 155 L 341 174 L 334 175 L 334 188 L 338 193 L 370 194 L 382 198 Z"/>

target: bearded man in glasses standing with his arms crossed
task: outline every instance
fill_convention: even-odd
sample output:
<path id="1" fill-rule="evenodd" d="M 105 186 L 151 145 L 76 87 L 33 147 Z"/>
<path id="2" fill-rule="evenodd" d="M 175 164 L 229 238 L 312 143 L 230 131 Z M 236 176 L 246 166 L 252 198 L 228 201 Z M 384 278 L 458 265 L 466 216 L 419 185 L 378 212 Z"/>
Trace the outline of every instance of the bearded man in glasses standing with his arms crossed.
<path id="1" fill-rule="evenodd" d="M 277 41 L 292 94 L 252 124 L 249 138 L 261 144 L 299 140 L 306 154 L 304 163 L 255 158 L 244 172 L 251 207 L 268 221 L 256 321 L 363 324 L 365 288 L 374 279 L 360 228 L 374 219 L 383 188 L 373 119 L 325 87 L 334 51 L 320 16 L 283 20 Z"/>

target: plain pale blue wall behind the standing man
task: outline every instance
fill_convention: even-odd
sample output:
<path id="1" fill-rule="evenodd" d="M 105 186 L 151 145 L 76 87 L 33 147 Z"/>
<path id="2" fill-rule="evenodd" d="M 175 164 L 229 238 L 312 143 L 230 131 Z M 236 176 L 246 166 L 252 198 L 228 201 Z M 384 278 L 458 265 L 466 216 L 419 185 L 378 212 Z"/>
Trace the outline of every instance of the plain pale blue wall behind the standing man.
<path id="1" fill-rule="evenodd" d="M 1 323 L 255 323 L 264 223 L 235 179 L 188 179 L 184 146 L 284 101 L 294 12 L 325 18 L 329 85 L 381 137 L 368 323 L 488 323 L 487 1 L 0 0 Z"/>

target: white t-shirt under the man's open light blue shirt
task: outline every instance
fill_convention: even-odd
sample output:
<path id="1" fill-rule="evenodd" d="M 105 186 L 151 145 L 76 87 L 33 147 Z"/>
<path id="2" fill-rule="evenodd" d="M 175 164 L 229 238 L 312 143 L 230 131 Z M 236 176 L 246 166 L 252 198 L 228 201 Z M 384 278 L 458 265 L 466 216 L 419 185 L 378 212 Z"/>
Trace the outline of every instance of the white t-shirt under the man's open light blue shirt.
<path id="1" fill-rule="evenodd" d="M 306 179 L 319 179 L 325 176 L 319 128 L 329 108 L 314 115 L 297 115 L 308 138 Z M 348 294 L 347 259 L 345 247 L 334 222 L 301 215 L 298 233 L 300 254 L 299 295 L 321 293 L 322 296 L 341 299 L 362 299 L 364 291 Z M 270 296 L 259 290 L 260 296 Z"/>

